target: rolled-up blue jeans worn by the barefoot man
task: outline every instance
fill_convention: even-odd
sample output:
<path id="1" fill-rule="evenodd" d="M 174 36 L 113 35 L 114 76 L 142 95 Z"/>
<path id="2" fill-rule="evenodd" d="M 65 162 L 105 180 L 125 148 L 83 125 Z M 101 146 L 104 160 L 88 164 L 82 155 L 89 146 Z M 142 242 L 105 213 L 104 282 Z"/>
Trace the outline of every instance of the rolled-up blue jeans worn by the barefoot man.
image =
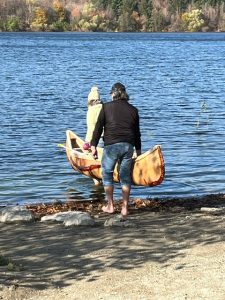
<path id="1" fill-rule="evenodd" d="M 116 143 L 104 147 L 102 157 L 102 179 L 104 186 L 113 186 L 113 170 L 120 164 L 119 176 L 121 185 L 131 185 L 131 166 L 134 153 L 133 145 Z"/>

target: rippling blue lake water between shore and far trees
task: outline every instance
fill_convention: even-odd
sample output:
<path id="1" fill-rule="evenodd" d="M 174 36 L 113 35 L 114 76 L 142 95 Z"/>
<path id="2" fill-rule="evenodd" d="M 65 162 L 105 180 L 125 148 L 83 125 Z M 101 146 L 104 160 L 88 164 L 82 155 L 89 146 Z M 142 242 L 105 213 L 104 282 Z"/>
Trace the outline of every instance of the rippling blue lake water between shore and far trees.
<path id="1" fill-rule="evenodd" d="M 102 199 L 57 147 L 86 131 L 89 89 L 116 81 L 139 109 L 164 182 L 133 197 L 224 192 L 225 34 L 0 33 L 0 204 Z M 116 198 L 120 190 L 116 188 Z"/>

